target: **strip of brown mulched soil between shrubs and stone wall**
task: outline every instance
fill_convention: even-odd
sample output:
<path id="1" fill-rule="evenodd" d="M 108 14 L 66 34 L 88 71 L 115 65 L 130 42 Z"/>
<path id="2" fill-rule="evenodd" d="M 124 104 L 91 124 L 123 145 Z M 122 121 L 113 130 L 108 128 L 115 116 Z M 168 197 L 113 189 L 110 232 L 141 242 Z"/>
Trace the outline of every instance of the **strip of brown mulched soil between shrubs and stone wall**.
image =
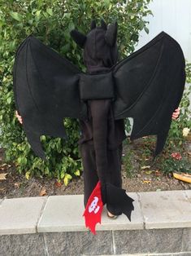
<path id="1" fill-rule="evenodd" d="M 174 179 L 172 174 L 163 174 L 160 170 L 152 170 L 149 166 L 140 166 L 137 157 L 140 157 L 142 141 L 124 145 L 124 157 L 128 152 L 133 152 L 130 161 L 131 171 L 127 165 L 122 165 L 123 188 L 127 192 L 147 192 L 191 189 L 191 183 L 185 183 Z M 35 178 L 26 179 L 24 174 L 19 174 L 14 165 L 8 165 L 3 161 L 3 150 L 0 149 L 0 198 L 12 198 L 23 196 L 53 196 L 53 195 L 77 195 L 83 194 L 83 174 L 65 186 L 56 179 Z M 129 177 L 131 176 L 131 177 Z M 4 179 L 3 179 L 4 177 Z"/>

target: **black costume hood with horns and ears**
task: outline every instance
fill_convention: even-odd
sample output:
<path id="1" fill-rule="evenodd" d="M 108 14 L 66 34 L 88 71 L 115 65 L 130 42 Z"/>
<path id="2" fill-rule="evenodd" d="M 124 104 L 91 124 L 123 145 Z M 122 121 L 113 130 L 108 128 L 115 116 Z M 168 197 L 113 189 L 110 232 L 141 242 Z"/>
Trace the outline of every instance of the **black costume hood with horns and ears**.
<path id="1" fill-rule="evenodd" d="M 118 59 L 116 44 L 117 23 L 108 27 L 104 20 L 97 27 L 92 20 L 89 33 L 80 33 L 76 29 L 71 31 L 71 36 L 81 48 L 84 48 L 84 61 L 89 73 L 100 73 L 109 70 Z"/>

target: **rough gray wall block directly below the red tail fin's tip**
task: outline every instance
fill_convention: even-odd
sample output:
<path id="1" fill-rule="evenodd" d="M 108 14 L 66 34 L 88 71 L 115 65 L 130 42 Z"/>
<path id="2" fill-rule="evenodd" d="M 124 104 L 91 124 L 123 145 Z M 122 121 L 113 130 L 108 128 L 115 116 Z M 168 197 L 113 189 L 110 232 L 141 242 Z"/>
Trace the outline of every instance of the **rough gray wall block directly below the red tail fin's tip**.
<path id="1" fill-rule="evenodd" d="M 49 256 L 113 254 L 112 233 L 90 232 L 45 233 Z"/>

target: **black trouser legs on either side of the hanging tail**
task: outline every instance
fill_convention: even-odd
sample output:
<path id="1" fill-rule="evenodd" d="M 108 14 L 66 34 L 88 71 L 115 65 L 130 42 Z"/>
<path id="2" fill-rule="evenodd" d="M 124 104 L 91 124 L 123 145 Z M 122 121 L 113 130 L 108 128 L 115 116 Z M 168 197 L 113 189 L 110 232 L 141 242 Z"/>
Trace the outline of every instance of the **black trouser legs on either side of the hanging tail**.
<path id="1" fill-rule="evenodd" d="M 87 204 L 89 196 L 93 192 L 93 189 L 98 183 L 98 171 L 95 161 L 95 150 L 93 144 L 82 143 L 80 144 L 80 154 L 82 157 L 82 165 L 84 169 L 84 204 Z M 115 185 L 118 188 L 122 186 L 121 179 L 121 156 L 122 156 L 122 144 L 118 148 L 107 150 L 108 166 L 106 170 L 106 182 Z M 111 205 L 106 205 L 107 210 L 111 214 L 119 215 L 121 213 L 112 209 Z"/>

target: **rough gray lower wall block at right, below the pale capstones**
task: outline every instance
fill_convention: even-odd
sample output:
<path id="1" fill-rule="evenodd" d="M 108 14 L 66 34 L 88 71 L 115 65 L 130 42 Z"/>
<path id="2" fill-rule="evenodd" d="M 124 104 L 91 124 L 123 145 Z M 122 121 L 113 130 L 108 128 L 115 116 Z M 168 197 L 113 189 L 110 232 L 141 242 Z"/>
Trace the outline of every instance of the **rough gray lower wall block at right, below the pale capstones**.
<path id="1" fill-rule="evenodd" d="M 182 248 L 182 229 L 114 231 L 115 254 L 178 253 Z"/>

